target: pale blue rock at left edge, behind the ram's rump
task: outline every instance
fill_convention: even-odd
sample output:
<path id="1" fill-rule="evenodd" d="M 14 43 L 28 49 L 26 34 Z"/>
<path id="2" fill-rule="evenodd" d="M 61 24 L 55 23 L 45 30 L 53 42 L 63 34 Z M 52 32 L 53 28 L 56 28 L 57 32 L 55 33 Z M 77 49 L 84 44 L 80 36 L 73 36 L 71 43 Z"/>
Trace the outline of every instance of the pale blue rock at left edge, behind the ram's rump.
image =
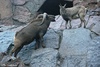
<path id="1" fill-rule="evenodd" d="M 5 52 L 8 46 L 13 43 L 15 32 L 4 31 L 0 33 L 0 52 Z"/>

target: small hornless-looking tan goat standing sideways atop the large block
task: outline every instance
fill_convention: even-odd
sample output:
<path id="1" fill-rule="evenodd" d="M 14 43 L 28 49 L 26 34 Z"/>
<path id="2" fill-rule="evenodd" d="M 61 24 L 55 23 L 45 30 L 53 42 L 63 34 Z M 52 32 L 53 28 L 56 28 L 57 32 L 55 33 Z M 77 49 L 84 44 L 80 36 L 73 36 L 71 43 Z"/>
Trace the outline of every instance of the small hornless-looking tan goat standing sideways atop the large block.
<path id="1" fill-rule="evenodd" d="M 86 21 L 84 19 L 85 15 L 86 15 L 86 8 L 82 5 L 76 5 L 74 7 L 71 8 L 65 8 L 66 4 L 64 6 L 59 5 L 60 7 L 60 14 L 63 17 L 63 19 L 66 21 L 66 28 L 67 28 L 67 20 L 69 20 L 69 25 L 70 25 L 70 29 L 72 28 L 71 26 L 71 20 L 75 19 L 75 18 L 80 18 L 81 20 L 81 24 L 79 27 L 82 26 L 82 22 L 84 23 L 84 28 L 86 28 Z M 78 15 L 78 17 L 77 17 Z"/>

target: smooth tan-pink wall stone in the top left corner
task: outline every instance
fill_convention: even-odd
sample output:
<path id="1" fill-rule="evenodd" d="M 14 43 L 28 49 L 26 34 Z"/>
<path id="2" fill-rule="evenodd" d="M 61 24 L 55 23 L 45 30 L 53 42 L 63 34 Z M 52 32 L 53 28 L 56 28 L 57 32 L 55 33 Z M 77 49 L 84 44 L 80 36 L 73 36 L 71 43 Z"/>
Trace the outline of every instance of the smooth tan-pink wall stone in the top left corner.
<path id="1" fill-rule="evenodd" d="M 8 18 L 12 15 L 10 0 L 0 0 L 0 19 Z"/>

